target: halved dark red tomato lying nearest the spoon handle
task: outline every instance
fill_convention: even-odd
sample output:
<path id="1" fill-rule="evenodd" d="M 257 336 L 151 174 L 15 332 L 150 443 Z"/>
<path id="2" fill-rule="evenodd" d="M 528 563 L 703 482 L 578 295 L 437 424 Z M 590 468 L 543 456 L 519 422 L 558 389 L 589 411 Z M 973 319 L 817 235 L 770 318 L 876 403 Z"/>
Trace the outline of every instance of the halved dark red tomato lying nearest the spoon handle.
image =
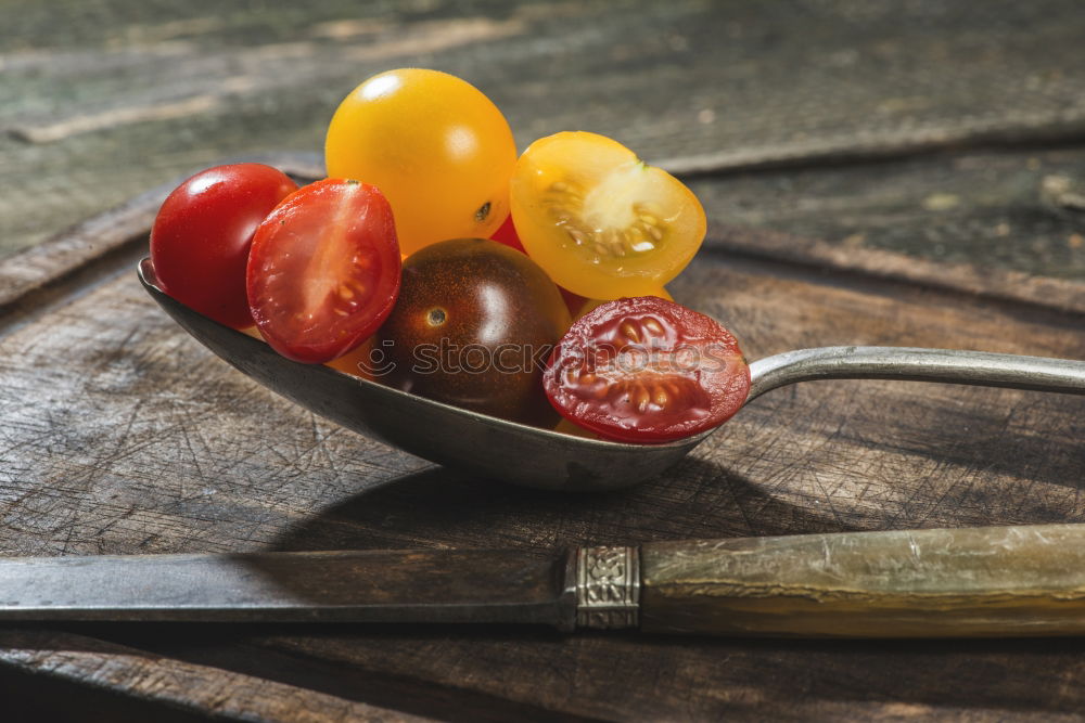
<path id="1" fill-rule="evenodd" d="M 750 370 L 715 320 L 644 296 L 610 301 L 574 323 L 542 384 L 562 416 L 601 437 L 665 442 L 735 414 Z"/>

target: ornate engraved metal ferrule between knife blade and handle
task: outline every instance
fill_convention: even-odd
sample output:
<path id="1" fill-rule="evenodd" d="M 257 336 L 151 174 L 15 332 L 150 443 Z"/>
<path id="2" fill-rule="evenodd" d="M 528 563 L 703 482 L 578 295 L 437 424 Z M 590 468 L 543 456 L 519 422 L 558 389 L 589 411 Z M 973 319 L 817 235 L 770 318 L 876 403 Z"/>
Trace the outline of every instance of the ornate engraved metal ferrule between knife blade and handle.
<path id="1" fill-rule="evenodd" d="M 576 625 L 636 628 L 640 608 L 640 551 L 580 547 L 576 551 Z"/>

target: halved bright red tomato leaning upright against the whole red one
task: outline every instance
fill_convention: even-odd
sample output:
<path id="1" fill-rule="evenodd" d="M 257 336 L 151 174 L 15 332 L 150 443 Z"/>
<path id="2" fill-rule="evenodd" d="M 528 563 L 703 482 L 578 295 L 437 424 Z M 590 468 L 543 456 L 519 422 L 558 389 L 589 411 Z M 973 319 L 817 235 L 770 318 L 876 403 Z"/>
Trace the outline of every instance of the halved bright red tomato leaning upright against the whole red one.
<path id="1" fill-rule="evenodd" d="M 327 362 L 376 331 L 399 294 L 392 208 L 372 185 L 324 179 L 256 231 L 248 304 L 260 334 L 295 361 Z"/>

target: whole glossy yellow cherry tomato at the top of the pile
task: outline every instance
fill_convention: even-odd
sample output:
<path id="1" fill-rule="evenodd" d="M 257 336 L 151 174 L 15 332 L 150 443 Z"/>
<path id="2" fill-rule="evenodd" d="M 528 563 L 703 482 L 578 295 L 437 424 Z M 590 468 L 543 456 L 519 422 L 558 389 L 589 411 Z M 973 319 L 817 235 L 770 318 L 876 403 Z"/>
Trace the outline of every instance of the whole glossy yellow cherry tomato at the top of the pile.
<path id="1" fill-rule="evenodd" d="M 446 238 L 488 238 L 509 212 L 509 124 L 447 73 L 407 68 L 366 80 L 335 111 L 324 156 L 330 177 L 384 193 L 407 255 Z"/>

